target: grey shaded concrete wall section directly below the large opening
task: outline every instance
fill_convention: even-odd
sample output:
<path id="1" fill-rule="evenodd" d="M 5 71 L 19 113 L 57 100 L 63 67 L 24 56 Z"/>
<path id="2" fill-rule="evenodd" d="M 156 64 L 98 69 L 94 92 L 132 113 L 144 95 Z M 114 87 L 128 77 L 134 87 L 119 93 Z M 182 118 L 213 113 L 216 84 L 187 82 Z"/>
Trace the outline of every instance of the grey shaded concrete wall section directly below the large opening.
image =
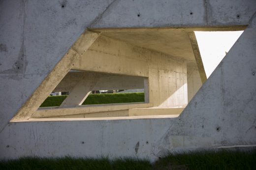
<path id="1" fill-rule="evenodd" d="M 151 153 L 152 146 L 173 122 L 170 118 L 101 121 L 75 119 L 76 121 L 47 119 L 50 121 L 10 123 L 1 132 L 0 157 L 105 155 L 110 158 L 150 156 L 151 159 L 156 159 Z"/>

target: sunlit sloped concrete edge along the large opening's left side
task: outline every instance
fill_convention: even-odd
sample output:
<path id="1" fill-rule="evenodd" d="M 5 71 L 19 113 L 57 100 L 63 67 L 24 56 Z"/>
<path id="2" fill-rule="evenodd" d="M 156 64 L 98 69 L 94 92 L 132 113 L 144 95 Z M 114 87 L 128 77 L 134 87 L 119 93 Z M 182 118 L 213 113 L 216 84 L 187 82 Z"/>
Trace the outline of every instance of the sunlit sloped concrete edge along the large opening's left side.
<path id="1" fill-rule="evenodd" d="M 72 68 L 75 61 L 94 43 L 98 36 L 99 34 L 90 31 L 82 34 L 11 121 L 29 119 Z"/>

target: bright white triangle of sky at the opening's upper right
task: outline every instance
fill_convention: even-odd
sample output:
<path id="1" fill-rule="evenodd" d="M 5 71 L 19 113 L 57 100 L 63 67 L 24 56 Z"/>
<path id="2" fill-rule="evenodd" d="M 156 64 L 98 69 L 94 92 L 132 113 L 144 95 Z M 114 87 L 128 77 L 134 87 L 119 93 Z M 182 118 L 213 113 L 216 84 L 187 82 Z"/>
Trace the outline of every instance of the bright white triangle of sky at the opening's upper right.
<path id="1" fill-rule="evenodd" d="M 208 78 L 243 31 L 195 31 L 194 33 Z"/>

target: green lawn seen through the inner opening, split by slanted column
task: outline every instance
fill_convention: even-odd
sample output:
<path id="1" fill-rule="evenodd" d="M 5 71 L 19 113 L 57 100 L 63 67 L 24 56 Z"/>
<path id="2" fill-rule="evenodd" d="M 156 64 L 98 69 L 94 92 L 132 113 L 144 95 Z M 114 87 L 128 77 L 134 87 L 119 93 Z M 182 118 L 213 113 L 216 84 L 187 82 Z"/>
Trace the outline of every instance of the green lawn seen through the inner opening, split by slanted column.
<path id="1" fill-rule="evenodd" d="M 44 100 L 40 107 L 60 106 L 66 97 L 66 95 L 49 96 Z M 83 105 L 130 102 L 144 102 L 144 93 L 91 94 L 83 102 Z"/>

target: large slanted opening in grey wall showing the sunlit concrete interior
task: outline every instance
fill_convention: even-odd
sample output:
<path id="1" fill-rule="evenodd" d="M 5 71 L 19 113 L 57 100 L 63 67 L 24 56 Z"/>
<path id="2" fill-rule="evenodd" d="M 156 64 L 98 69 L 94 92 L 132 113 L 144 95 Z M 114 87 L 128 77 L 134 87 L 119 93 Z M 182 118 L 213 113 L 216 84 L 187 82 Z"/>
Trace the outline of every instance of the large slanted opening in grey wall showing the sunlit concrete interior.
<path id="1" fill-rule="evenodd" d="M 205 51 L 217 51 L 214 47 L 219 44 L 226 47 L 225 40 L 231 36 L 227 46 L 230 49 L 242 33 L 225 38 L 229 33 L 222 32 L 216 42 L 206 35 L 207 30 L 216 29 L 228 30 L 94 29 L 100 36 L 76 62 L 69 63 L 70 71 L 54 86 L 53 96 L 48 97 L 30 119 L 177 117 L 224 57 Z M 194 33 L 196 30 L 205 32 Z M 59 98 L 58 104 L 47 105 L 54 98 Z"/>

